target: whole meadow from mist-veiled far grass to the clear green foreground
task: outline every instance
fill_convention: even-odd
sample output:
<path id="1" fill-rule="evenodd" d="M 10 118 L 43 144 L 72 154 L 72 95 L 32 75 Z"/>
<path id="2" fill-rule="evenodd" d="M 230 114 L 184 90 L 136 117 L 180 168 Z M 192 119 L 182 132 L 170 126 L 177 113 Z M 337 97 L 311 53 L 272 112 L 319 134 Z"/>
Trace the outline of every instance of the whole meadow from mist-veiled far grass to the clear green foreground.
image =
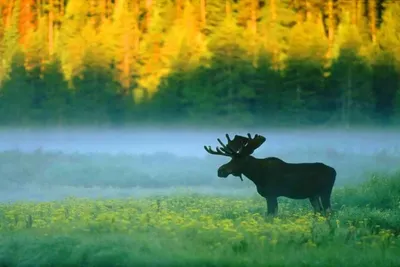
<path id="1" fill-rule="evenodd" d="M 249 181 L 217 178 L 225 158 L 0 152 L 0 266 L 400 265 L 396 151 L 282 151 L 338 170 L 332 217 L 285 198 L 266 217 Z"/>

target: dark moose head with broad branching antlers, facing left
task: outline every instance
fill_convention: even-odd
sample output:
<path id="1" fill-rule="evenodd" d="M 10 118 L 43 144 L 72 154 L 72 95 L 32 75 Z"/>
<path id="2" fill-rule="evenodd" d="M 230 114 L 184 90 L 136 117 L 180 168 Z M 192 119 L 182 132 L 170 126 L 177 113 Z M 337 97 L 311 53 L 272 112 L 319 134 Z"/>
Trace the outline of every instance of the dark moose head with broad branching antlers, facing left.
<path id="1" fill-rule="evenodd" d="M 246 160 L 250 155 L 265 142 L 266 138 L 258 134 L 252 138 L 250 134 L 247 134 L 248 137 L 235 135 L 231 140 L 228 134 L 225 136 L 228 140 L 226 145 L 218 138 L 217 141 L 221 144 L 221 147 L 217 147 L 215 151 L 210 146 L 204 146 L 204 149 L 212 155 L 232 158 L 228 163 L 218 168 L 218 177 L 226 178 L 229 174 L 232 174 L 240 177 L 243 181 L 243 165 L 246 164 Z"/>

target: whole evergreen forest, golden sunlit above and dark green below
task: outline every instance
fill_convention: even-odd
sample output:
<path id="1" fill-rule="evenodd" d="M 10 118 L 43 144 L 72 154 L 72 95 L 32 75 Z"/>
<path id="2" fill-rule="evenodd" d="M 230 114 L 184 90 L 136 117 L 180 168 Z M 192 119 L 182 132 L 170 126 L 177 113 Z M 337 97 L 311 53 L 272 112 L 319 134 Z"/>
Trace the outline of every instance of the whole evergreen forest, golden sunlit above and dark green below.
<path id="1" fill-rule="evenodd" d="M 400 1 L 1 0 L 3 126 L 398 126 Z"/>

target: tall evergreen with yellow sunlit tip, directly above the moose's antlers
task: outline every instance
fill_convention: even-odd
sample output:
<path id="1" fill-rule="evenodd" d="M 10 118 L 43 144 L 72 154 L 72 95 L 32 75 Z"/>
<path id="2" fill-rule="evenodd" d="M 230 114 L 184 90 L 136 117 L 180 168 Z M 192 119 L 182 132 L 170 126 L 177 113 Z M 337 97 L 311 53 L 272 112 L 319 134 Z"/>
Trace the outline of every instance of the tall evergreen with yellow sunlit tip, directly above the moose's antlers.
<path id="1" fill-rule="evenodd" d="M 211 114 L 210 103 L 213 103 L 213 114 L 217 117 L 225 118 L 224 120 L 241 118 L 243 122 L 250 120 L 249 99 L 255 95 L 253 88 L 246 84 L 246 80 L 248 72 L 252 70 L 252 61 L 246 56 L 243 34 L 232 13 L 227 15 L 212 35 L 209 48 L 212 63 L 208 86 L 204 88 L 208 90 L 209 97 L 202 99 L 200 96 L 204 95 L 204 92 L 191 91 L 189 98 L 203 100 L 193 108 L 199 116 L 207 117 Z"/>

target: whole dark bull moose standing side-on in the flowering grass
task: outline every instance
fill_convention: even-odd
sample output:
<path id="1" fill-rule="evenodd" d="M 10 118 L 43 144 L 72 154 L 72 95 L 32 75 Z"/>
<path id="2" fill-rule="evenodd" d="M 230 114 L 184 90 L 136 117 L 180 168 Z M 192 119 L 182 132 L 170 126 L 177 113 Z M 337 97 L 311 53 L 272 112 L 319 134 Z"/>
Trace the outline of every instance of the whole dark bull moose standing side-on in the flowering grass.
<path id="1" fill-rule="evenodd" d="M 267 202 L 267 215 L 278 214 L 278 197 L 309 199 L 315 213 L 331 212 L 331 193 L 336 180 L 336 170 L 320 162 L 288 163 L 276 157 L 255 158 L 251 154 L 265 141 L 264 136 L 256 134 L 253 138 L 235 135 L 231 140 L 225 135 L 225 145 L 218 138 L 221 147 L 204 149 L 212 155 L 232 158 L 218 168 L 218 177 L 227 178 L 230 174 L 242 175 L 256 186 L 259 195 Z"/>

